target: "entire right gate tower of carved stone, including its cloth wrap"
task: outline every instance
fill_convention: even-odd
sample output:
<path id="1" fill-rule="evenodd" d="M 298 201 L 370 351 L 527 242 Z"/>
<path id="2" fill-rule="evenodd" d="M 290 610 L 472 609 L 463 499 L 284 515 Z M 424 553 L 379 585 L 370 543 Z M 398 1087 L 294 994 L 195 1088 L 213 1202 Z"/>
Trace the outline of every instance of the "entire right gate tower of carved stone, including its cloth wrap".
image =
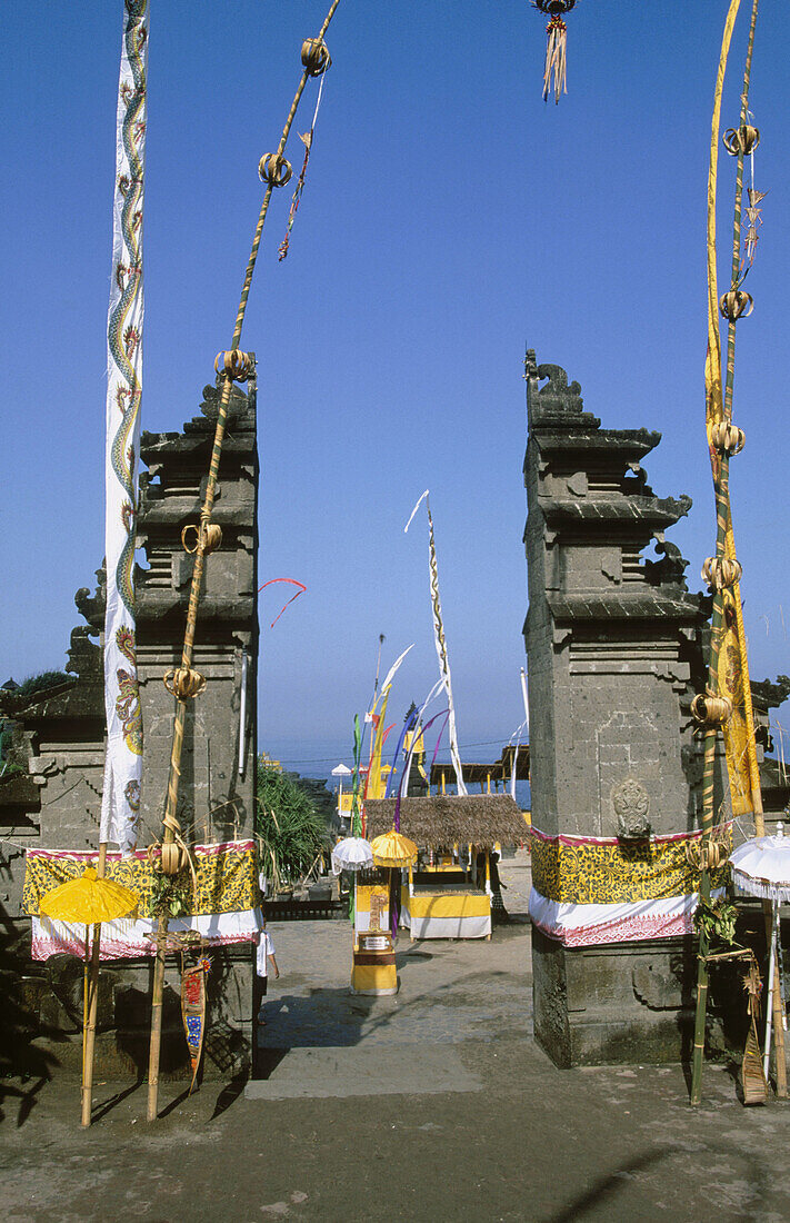
<path id="1" fill-rule="evenodd" d="M 674 1060 L 692 1003 L 706 600 L 664 532 L 691 500 L 646 483 L 660 434 L 602 429 L 533 352 L 526 378 L 536 1037 L 560 1065 Z"/>

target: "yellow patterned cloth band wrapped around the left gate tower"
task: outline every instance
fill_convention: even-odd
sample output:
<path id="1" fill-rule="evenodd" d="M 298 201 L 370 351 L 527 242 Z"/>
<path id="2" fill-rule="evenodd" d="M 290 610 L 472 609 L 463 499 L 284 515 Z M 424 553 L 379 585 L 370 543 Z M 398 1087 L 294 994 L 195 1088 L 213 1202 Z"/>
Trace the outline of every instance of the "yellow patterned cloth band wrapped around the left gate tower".
<path id="1" fill-rule="evenodd" d="M 88 851 L 28 850 L 22 896 L 24 912 L 37 917 L 45 893 L 68 879 L 78 879 L 86 866 L 95 865 L 97 859 L 98 854 Z M 188 876 L 188 882 L 182 889 L 187 910 L 181 916 L 241 912 L 254 909 L 260 903 L 254 841 L 196 845 L 192 859 L 197 874 L 197 903 L 192 903 L 192 876 L 187 871 L 185 879 Z M 124 859 L 119 852 L 108 854 L 106 877 L 139 896 L 139 917 L 153 916 L 150 898 L 159 871 L 148 861 L 144 851 Z"/>

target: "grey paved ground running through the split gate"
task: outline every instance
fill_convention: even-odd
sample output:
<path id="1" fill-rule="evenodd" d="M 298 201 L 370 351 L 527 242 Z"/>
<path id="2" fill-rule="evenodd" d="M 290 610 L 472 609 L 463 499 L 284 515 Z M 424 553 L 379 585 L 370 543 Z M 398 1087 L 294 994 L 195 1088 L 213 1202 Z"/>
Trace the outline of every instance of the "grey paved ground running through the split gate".
<path id="1" fill-rule="evenodd" d="M 523 865 L 503 876 L 523 915 Z M 149 1126 L 144 1087 L 105 1084 L 87 1132 L 73 1084 L 45 1086 L 29 1115 L 10 1098 L 4 1219 L 790 1217 L 789 1107 L 744 1109 L 715 1066 L 692 1110 L 680 1068 L 563 1071 L 543 1057 L 523 920 L 490 943 L 401 944 L 401 992 L 378 1000 L 347 993 L 344 923 L 274 934 L 268 1098 L 243 1081 L 191 1099 L 168 1085 Z"/>

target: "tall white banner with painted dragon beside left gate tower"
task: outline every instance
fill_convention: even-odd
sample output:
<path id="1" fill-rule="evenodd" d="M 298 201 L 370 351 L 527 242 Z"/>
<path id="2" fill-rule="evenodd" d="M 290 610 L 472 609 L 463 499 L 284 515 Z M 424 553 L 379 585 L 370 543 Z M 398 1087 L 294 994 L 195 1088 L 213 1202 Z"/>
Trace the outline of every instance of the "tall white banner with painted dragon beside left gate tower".
<path id="1" fill-rule="evenodd" d="M 102 841 L 137 845 L 143 725 L 135 641 L 137 460 L 143 366 L 143 177 L 148 0 L 125 0 L 117 97 L 113 280 L 108 313 L 106 614 L 104 700 L 108 746 Z"/>

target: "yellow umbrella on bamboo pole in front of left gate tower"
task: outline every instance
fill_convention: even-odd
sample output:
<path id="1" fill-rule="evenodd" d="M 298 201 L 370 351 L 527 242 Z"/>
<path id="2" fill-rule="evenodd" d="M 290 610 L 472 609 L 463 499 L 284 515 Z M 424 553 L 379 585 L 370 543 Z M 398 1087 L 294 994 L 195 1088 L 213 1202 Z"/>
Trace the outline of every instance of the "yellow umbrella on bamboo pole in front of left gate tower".
<path id="1" fill-rule="evenodd" d="M 86 927 L 84 989 L 82 1011 L 82 1124 L 90 1124 L 93 1091 L 93 1047 L 95 1042 L 97 996 L 99 983 L 99 929 L 104 921 L 137 915 L 138 898 L 113 879 L 99 878 L 88 866 L 78 879 L 68 879 L 53 888 L 40 900 L 39 916 L 53 921 L 79 922 Z M 90 927 L 94 926 L 93 964 L 90 963 Z M 89 969 L 90 971 L 89 974 Z"/>

